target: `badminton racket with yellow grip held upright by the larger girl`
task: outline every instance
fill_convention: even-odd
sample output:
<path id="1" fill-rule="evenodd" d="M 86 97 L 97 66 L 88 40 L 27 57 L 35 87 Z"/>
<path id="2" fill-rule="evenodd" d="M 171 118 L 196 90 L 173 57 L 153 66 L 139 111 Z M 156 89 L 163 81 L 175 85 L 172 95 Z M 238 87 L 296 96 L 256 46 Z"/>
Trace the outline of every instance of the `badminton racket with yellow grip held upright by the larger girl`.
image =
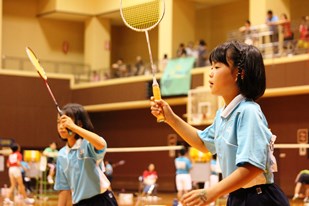
<path id="1" fill-rule="evenodd" d="M 155 28 L 163 19 L 165 12 L 164 0 L 120 0 L 120 14 L 123 22 L 130 29 L 145 32 L 152 71 L 152 92 L 155 100 L 161 99 L 159 84 L 155 77 L 148 31 Z M 164 122 L 163 114 L 157 117 L 157 122 Z"/>

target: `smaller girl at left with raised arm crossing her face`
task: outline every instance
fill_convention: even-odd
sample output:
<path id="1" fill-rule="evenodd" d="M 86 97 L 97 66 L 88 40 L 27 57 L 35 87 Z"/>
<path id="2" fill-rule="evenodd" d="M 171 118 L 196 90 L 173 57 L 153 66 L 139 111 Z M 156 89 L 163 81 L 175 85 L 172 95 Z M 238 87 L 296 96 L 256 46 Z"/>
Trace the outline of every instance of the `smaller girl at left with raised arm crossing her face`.
<path id="1" fill-rule="evenodd" d="M 108 190 L 110 182 L 104 175 L 106 141 L 93 132 L 88 113 L 81 105 L 70 103 L 61 111 L 63 115 L 58 115 L 57 129 L 67 144 L 57 159 L 58 206 L 65 206 L 71 198 L 77 206 L 117 206 L 113 193 Z"/>

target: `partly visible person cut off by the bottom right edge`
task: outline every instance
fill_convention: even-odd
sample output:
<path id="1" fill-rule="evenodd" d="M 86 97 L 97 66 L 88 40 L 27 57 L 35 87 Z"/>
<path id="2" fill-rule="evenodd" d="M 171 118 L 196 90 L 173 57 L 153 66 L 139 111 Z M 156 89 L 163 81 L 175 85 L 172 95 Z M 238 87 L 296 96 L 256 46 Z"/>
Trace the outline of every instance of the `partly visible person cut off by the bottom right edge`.
<path id="1" fill-rule="evenodd" d="M 309 203 L 309 170 L 302 170 L 298 173 L 295 180 L 295 189 L 293 200 L 304 198 L 305 203 Z M 305 195 L 300 193 L 301 187 L 305 187 Z"/>

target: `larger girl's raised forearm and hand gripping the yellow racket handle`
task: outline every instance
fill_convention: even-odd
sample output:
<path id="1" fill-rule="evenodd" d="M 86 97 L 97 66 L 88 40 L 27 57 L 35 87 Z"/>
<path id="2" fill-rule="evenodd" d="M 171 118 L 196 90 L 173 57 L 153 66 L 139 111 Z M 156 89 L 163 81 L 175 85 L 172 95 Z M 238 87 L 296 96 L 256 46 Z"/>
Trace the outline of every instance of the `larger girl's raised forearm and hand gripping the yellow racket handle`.
<path id="1" fill-rule="evenodd" d="M 182 139 L 189 143 L 192 147 L 200 150 L 201 152 L 208 152 L 203 141 L 197 134 L 197 129 L 189 125 L 179 116 L 177 116 L 169 104 L 164 100 L 154 100 L 151 98 L 150 101 L 151 113 L 157 117 L 159 114 L 163 113 L 165 117 L 165 123 L 171 126 L 175 132 L 177 132 Z"/>

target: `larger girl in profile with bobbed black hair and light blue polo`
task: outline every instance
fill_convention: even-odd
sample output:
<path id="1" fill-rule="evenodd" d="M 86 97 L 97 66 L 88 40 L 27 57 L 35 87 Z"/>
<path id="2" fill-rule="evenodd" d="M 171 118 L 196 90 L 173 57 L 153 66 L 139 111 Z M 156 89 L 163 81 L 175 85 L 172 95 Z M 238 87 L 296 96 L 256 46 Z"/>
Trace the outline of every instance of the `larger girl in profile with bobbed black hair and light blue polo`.
<path id="1" fill-rule="evenodd" d="M 255 102 L 266 88 L 265 67 L 260 51 L 236 41 L 217 46 L 210 54 L 211 93 L 222 96 L 225 106 L 212 125 L 198 130 L 180 117 L 164 100 L 151 98 L 151 113 L 164 114 L 186 142 L 202 152 L 217 154 L 223 180 L 207 189 L 183 195 L 186 206 L 208 205 L 229 193 L 228 206 L 287 206 L 289 201 L 274 184 L 275 136 Z"/>

